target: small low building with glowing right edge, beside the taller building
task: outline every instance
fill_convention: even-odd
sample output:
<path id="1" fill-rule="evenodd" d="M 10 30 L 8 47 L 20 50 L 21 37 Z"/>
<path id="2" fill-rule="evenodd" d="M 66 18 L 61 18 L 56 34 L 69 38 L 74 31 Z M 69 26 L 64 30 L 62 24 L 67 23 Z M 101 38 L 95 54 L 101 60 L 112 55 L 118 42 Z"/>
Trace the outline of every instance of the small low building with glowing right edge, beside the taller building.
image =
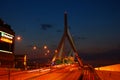
<path id="1" fill-rule="evenodd" d="M 15 55 L 15 68 L 19 68 L 22 70 L 27 69 L 27 56 L 23 55 Z"/>

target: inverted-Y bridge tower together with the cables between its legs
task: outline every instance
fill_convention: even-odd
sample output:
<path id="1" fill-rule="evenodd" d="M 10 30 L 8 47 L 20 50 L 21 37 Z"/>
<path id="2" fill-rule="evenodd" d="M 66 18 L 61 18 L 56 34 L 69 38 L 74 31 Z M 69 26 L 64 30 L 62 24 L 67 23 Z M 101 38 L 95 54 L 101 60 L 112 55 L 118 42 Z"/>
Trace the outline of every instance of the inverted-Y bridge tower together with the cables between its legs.
<path id="1" fill-rule="evenodd" d="M 70 46 L 70 52 L 65 52 L 65 41 L 68 40 L 69 42 L 69 46 Z M 73 55 L 70 55 L 71 52 L 73 52 Z M 67 56 L 67 57 L 66 57 Z M 75 44 L 74 44 L 74 41 L 72 39 L 72 36 L 69 32 L 69 28 L 68 28 L 68 25 L 67 25 L 67 12 L 64 13 L 64 33 L 63 33 L 63 36 L 60 40 L 60 43 L 58 45 L 58 48 L 53 56 L 53 59 L 52 59 L 52 63 L 55 63 L 55 61 L 60 61 L 60 62 L 64 62 L 65 59 L 73 59 L 74 58 L 77 58 L 77 61 L 80 65 L 80 67 L 83 66 L 83 63 L 81 61 L 81 58 L 78 56 L 78 52 L 77 52 L 77 49 L 75 47 Z"/>

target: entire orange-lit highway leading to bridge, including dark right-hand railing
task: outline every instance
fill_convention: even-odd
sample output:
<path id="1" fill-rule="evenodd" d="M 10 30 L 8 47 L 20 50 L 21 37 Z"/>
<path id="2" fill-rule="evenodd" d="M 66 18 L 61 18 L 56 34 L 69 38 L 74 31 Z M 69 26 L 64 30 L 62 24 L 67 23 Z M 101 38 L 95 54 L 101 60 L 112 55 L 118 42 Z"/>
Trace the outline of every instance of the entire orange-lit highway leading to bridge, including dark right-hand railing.
<path id="1" fill-rule="evenodd" d="M 0 76 L 0 80 L 101 80 L 93 68 L 78 65 L 57 65 Z"/>

